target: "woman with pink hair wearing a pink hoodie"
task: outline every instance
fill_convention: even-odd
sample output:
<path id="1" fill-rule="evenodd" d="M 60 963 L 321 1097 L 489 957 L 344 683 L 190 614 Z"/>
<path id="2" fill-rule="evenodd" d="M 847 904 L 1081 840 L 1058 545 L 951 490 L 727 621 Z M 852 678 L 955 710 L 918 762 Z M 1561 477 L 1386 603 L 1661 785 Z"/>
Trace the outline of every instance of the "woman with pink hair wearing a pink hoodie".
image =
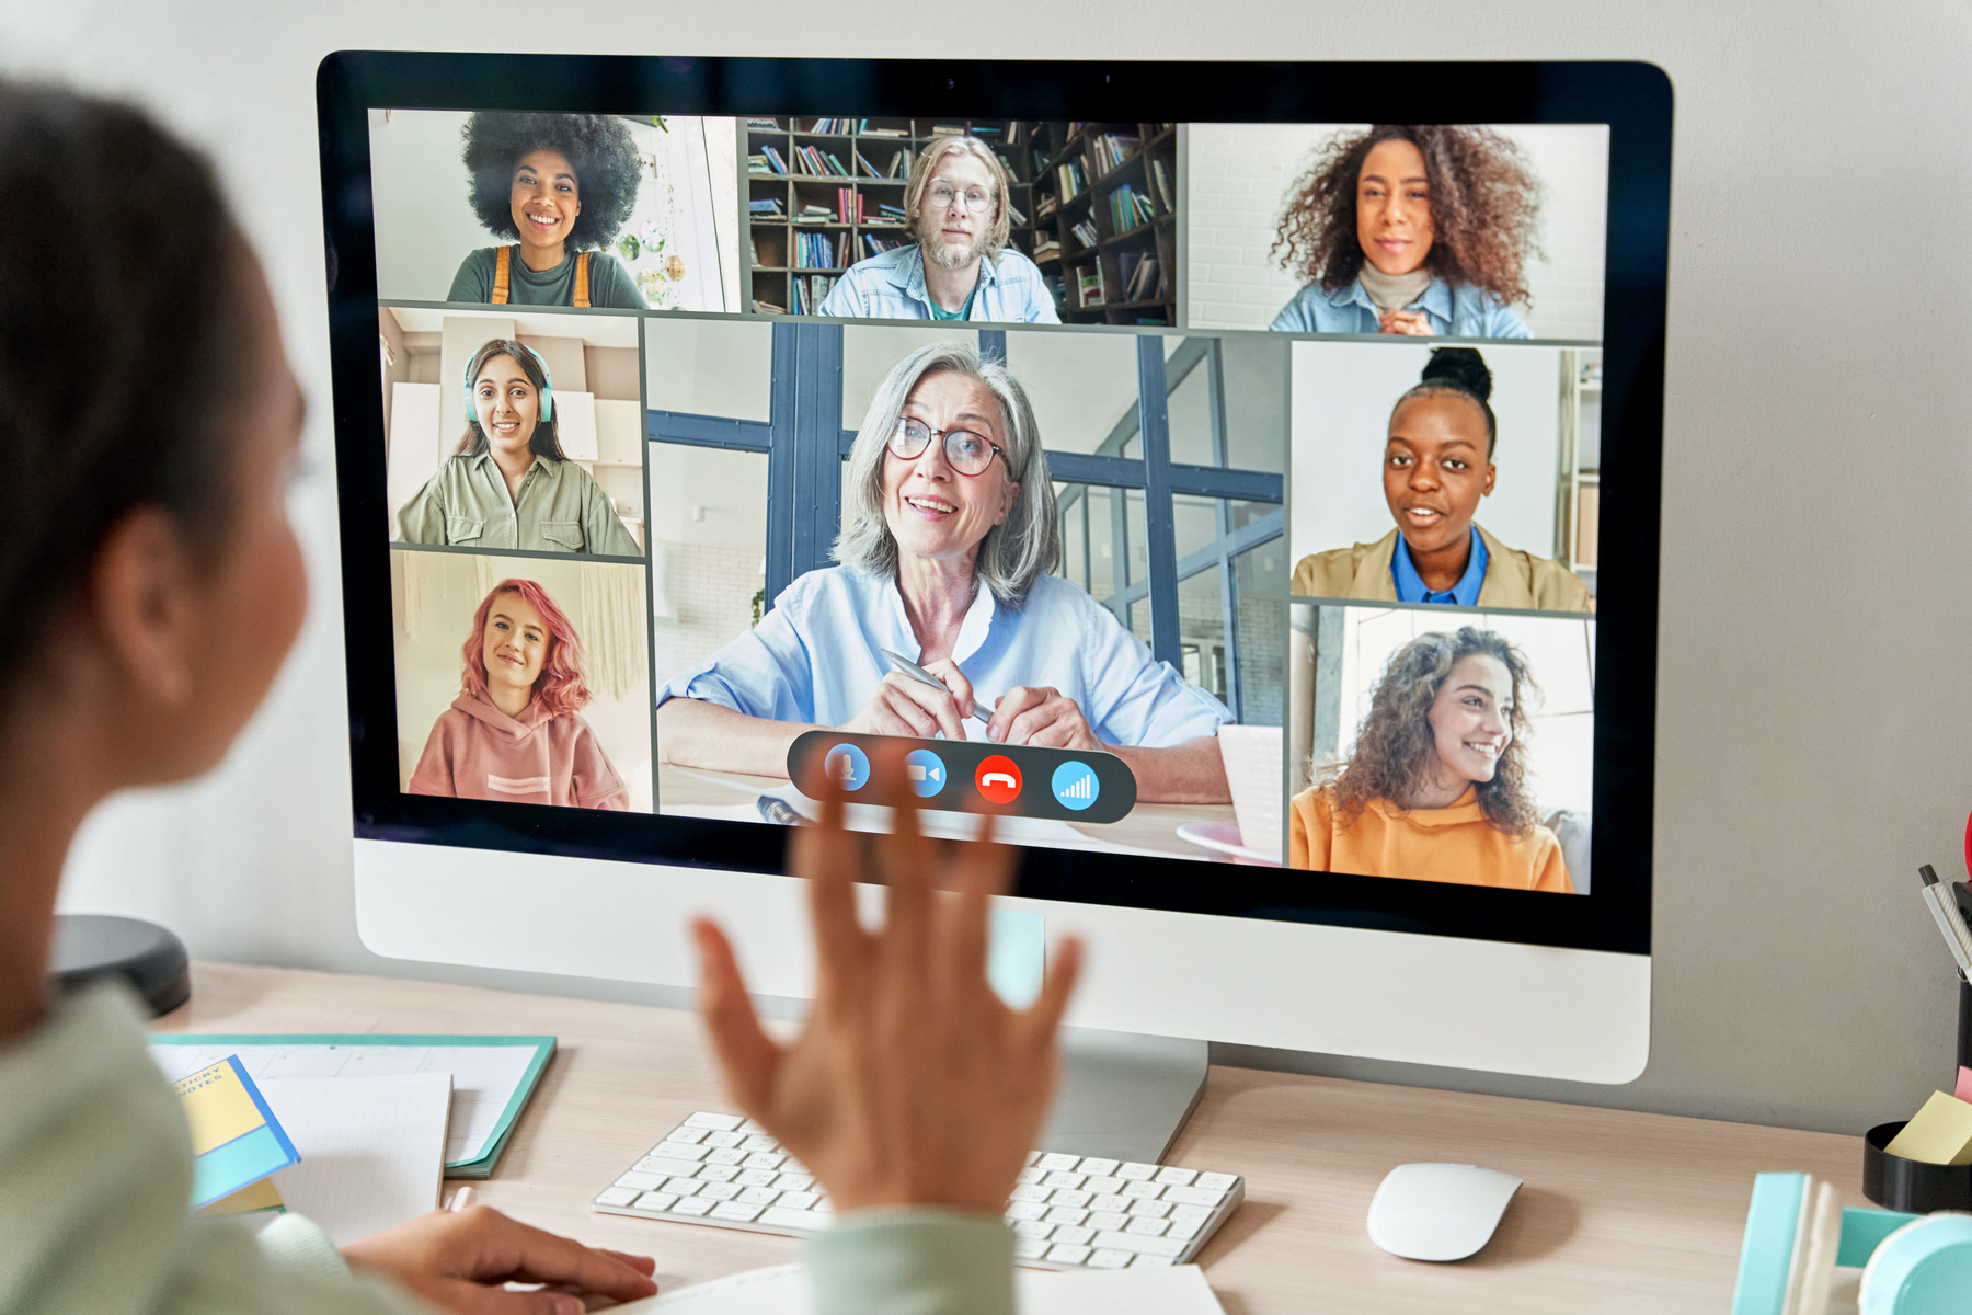
<path id="1" fill-rule="evenodd" d="M 629 791 L 582 720 L 582 639 L 532 580 L 503 580 L 465 637 L 465 674 L 438 714 L 412 795 L 625 808 Z"/>

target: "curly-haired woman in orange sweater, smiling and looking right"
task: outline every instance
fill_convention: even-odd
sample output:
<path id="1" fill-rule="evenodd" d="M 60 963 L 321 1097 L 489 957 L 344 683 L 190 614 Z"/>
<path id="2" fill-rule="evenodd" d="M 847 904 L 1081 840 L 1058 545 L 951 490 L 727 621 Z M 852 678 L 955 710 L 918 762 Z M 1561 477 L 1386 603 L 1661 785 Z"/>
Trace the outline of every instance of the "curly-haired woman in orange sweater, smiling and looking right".
<path id="1" fill-rule="evenodd" d="M 1493 631 L 1418 635 L 1390 662 L 1339 773 L 1294 796 L 1288 865 L 1576 893 L 1526 796 L 1526 657 Z"/>

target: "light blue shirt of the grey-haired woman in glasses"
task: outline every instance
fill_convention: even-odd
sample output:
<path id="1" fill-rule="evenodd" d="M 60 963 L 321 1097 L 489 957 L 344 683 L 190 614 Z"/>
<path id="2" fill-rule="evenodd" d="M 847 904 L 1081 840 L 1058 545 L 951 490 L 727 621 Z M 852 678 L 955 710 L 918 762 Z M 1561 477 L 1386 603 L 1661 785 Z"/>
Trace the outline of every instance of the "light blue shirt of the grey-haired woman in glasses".
<path id="1" fill-rule="evenodd" d="M 657 694 L 702 698 L 749 718 L 842 726 L 889 674 L 883 649 L 917 660 L 895 582 L 844 566 L 812 570 L 773 601 L 759 625 Z M 1215 735 L 1232 714 L 1160 662 L 1085 589 L 1041 576 L 1016 611 L 980 588 L 958 627 L 952 662 L 982 706 L 1014 686 L 1053 686 L 1075 700 L 1096 739 L 1163 749 Z M 966 737 L 986 724 L 966 720 Z"/>

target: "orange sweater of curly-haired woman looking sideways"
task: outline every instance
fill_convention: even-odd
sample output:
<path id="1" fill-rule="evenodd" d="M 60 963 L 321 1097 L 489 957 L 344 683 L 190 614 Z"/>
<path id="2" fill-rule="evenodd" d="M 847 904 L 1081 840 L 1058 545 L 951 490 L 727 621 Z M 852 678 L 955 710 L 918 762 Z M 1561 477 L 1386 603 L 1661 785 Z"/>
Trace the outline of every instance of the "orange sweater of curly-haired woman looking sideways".
<path id="1" fill-rule="evenodd" d="M 1347 830 L 1319 789 L 1296 795 L 1288 812 L 1288 867 L 1576 893 L 1554 832 L 1509 836 L 1485 820 L 1471 787 L 1449 808 L 1404 812 L 1373 800 Z"/>

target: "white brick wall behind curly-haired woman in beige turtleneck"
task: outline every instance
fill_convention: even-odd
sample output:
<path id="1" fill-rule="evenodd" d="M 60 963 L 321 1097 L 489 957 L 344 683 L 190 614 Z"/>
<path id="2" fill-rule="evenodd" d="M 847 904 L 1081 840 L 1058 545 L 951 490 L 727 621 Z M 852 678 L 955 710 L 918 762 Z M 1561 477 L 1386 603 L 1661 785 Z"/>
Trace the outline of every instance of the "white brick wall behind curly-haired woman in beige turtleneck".
<path id="1" fill-rule="evenodd" d="M 1193 327 L 1264 329 L 1302 280 L 1268 258 L 1288 187 L 1347 124 L 1191 124 L 1185 183 L 1187 317 Z M 1601 339 L 1609 132 L 1499 126 L 1546 183 L 1542 258 L 1528 266 L 1534 337 Z"/>

